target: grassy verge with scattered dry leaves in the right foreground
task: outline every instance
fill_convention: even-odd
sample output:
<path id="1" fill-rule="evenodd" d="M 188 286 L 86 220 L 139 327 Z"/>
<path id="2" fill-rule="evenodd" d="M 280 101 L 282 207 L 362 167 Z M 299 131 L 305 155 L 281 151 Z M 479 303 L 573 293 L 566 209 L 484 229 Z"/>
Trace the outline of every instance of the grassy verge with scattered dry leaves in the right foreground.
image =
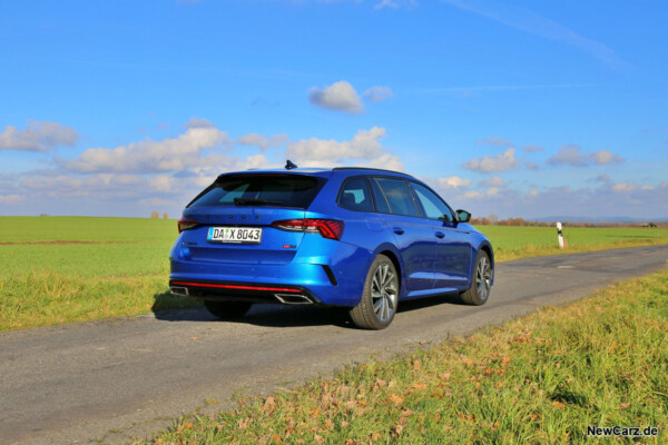
<path id="1" fill-rule="evenodd" d="M 666 443 L 667 298 L 664 270 L 405 358 L 183 417 L 150 443 L 617 442 L 587 437 L 589 425 L 650 425 L 660 436 L 646 442 Z"/>

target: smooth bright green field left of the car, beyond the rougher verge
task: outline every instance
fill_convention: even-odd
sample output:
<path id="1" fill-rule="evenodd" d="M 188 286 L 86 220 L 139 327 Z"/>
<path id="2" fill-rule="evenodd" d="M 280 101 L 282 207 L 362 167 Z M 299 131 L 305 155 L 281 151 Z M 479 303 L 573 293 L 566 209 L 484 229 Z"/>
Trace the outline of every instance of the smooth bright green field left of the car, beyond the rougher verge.
<path id="1" fill-rule="evenodd" d="M 29 270 L 78 277 L 164 276 L 176 235 L 176 221 L 169 219 L 2 217 L 0 258 L 11 260 L 2 260 L 0 277 Z M 53 241 L 70 244 L 38 244 Z"/>

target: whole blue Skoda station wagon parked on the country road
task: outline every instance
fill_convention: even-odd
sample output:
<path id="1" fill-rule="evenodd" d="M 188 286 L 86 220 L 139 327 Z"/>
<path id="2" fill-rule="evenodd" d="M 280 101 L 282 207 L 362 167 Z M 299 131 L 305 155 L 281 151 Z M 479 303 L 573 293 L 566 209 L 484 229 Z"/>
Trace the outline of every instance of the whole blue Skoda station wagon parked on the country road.
<path id="1" fill-rule="evenodd" d="M 402 300 L 488 300 L 494 254 L 470 218 L 396 171 L 288 161 L 224 174 L 178 221 L 169 287 L 220 318 L 257 303 L 343 306 L 357 327 L 382 329 Z"/>

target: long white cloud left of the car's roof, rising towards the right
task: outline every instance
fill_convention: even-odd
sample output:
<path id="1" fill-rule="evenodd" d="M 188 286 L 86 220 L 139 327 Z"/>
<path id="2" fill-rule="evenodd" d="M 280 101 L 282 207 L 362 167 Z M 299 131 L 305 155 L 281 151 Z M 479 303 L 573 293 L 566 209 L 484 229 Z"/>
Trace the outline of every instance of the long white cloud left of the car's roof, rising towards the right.
<path id="1" fill-rule="evenodd" d="M 216 148 L 225 142 L 229 142 L 225 131 L 189 128 L 171 139 L 146 139 L 116 148 L 89 148 L 78 158 L 66 161 L 65 168 L 85 174 L 178 171 L 200 164 L 205 148 Z"/>

